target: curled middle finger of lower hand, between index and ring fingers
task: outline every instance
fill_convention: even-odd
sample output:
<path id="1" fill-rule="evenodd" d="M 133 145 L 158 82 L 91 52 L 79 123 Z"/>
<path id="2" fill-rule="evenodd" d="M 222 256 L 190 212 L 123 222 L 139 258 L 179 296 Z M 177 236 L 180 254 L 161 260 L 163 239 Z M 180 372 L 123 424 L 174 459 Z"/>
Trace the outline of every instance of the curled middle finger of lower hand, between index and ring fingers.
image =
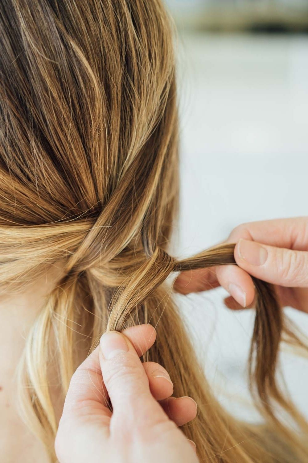
<path id="1" fill-rule="evenodd" d="M 154 399 L 163 400 L 173 394 L 173 383 L 164 367 L 156 362 L 144 362 L 143 368 Z"/>

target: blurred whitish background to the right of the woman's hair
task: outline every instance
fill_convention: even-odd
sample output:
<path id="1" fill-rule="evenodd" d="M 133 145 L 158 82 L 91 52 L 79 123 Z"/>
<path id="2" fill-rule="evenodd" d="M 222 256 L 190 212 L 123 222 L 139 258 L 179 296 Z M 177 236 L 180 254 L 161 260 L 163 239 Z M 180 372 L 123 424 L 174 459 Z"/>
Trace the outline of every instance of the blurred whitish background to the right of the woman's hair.
<path id="1" fill-rule="evenodd" d="M 178 29 L 181 209 L 178 256 L 254 220 L 308 215 L 308 0 L 166 0 Z M 222 404 L 258 418 L 246 360 L 251 310 L 222 289 L 179 296 Z M 308 333 L 308 315 L 286 312 Z M 308 416 L 308 360 L 283 348 L 295 403 Z"/>

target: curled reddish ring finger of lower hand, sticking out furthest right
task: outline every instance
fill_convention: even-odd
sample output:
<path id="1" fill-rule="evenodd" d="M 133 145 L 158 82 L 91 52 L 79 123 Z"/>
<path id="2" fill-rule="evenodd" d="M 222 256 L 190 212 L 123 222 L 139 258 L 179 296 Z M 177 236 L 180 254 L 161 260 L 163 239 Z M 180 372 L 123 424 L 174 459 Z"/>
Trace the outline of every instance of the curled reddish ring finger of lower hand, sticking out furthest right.
<path id="1" fill-rule="evenodd" d="M 185 425 L 197 416 L 197 403 L 191 397 L 169 397 L 162 400 L 160 405 L 178 426 Z"/>

